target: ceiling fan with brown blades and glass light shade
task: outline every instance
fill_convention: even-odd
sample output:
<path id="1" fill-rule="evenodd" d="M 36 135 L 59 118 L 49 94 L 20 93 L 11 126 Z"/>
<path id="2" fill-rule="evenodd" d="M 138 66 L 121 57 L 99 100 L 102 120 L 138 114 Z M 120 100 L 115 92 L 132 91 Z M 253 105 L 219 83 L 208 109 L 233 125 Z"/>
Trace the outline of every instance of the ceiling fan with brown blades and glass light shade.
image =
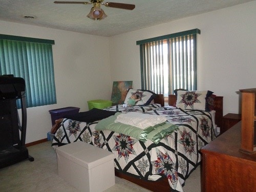
<path id="1" fill-rule="evenodd" d="M 113 2 L 106 2 L 103 3 L 104 0 L 90 0 L 90 2 L 54 2 L 55 4 L 93 4 L 93 7 L 91 8 L 90 13 L 87 15 L 87 17 L 93 19 L 93 20 L 101 20 L 107 15 L 104 13 L 104 11 L 100 8 L 100 5 L 104 5 L 106 7 L 113 7 L 113 8 L 119 8 L 119 9 L 127 9 L 127 10 L 133 10 L 135 8 L 135 5 L 133 4 L 123 4 L 123 3 L 113 3 Z"/>

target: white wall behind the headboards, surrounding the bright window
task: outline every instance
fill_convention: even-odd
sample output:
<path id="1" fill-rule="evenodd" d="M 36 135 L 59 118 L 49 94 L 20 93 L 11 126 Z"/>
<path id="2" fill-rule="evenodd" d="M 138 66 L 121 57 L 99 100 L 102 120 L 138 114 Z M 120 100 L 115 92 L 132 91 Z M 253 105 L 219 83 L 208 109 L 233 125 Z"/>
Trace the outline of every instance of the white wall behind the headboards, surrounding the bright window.
<path id="1" fill-rule="evenodd" d="M 137 40 L 198 28 L 198 90 L 224 96 L 224 115 L 239 113 L 240 89 L 256 84 L 256 1 L 111 37 L 112 80 L 140 88 Z"/>

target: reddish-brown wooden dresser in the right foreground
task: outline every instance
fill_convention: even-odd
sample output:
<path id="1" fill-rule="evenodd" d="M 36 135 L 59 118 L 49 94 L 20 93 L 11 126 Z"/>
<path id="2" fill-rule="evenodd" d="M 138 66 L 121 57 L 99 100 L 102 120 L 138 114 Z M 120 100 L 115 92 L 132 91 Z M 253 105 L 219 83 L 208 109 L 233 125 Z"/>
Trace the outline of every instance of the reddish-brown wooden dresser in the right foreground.
<path id="1" fill-rule="evenodd" d="M 202 191 L 256 191 L 256 154 L 240 148 L 241 121 L 201 149 Z"/>

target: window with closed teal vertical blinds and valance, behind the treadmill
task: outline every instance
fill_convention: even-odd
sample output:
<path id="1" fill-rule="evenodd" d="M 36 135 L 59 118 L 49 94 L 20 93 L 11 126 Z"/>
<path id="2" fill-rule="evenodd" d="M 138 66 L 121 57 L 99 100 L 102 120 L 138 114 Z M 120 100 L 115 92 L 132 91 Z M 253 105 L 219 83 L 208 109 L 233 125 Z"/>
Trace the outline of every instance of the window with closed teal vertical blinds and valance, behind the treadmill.
<path id="1" fill-rule="evenodd" d="M 0 34 L 0 75 L 25 79 L 27 107 L 56 103 L 52 44 L 54 40 Z"/>

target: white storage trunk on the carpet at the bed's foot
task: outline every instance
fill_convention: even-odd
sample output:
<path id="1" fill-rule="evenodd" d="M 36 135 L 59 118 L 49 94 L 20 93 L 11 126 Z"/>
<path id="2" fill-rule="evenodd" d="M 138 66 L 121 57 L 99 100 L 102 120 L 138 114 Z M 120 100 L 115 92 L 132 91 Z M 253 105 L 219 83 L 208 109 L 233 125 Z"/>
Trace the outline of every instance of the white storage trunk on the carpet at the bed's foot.
<path id="1" fill-rule="evenodd" d="M 115 185 L 115 155 L 77 141 L 57 147 L 58 175 L 79 191 L 99 192 Z"/>

